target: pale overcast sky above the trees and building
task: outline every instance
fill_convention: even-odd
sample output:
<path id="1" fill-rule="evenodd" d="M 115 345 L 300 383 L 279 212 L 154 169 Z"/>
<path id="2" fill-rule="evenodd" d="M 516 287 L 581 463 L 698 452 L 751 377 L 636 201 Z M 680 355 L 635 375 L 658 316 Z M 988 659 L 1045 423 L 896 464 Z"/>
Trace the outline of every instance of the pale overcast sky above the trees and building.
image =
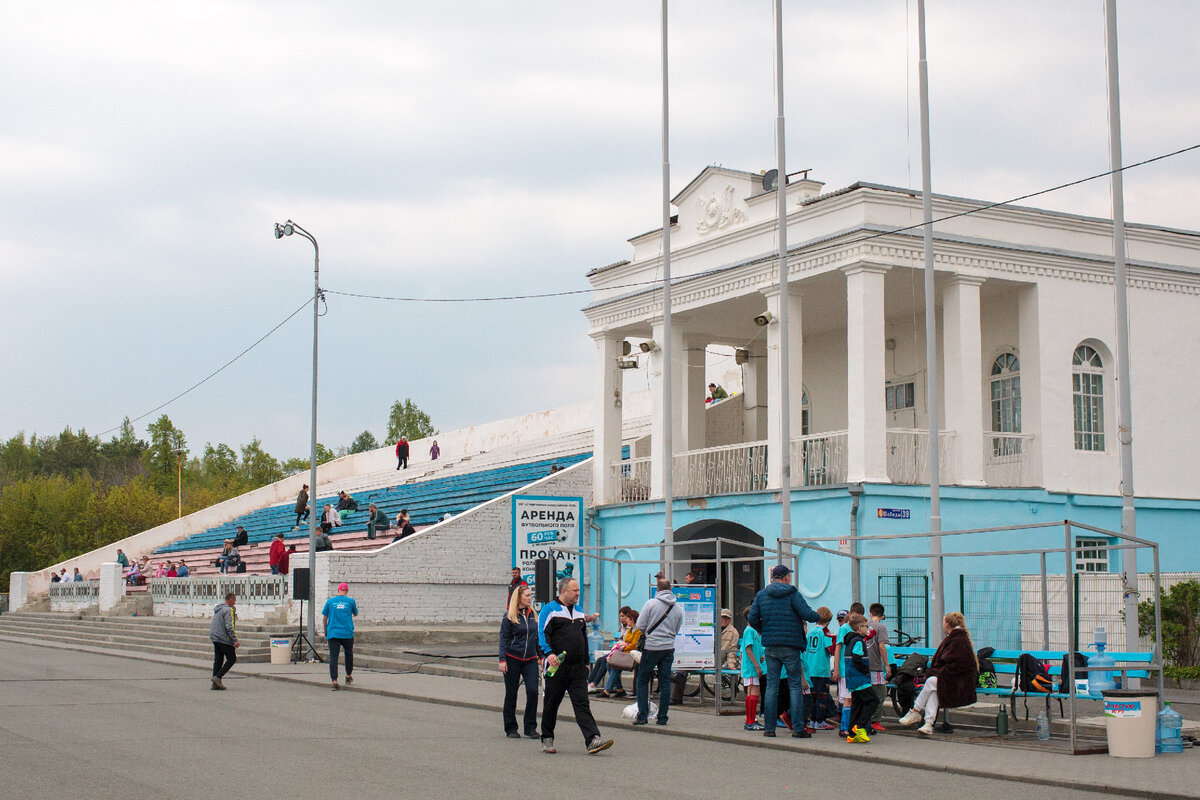
<path id="1" fill-rule="evenodd" d="M 790 169 L 920 185 L 916 1 L 785 4 Z M 1102 0 L 929 0 L 934 190 L 1001 200 L 1108 168 Z M 1200 2 L 1122 0 L 1126 162 L 1200 143 Z M 672 188 L 774 162 L 772 2 L 672 4 Z M 570 290 L 659 224 L 659 4 L 0 7 L 0 435 L 96 434 L 312 294 Z M 1037 205 L 1108 216 L 1108 181 Z M 1130 222 L 1200 228 L 1200 155 L 1130 170 Z M 329 297 L 320 440 L 587 399 L 586 296 Z M 166 409 L 193 453 L 308 451 L 311 311 Z M 154 416 L 137 423 L 144 434 Z"/>

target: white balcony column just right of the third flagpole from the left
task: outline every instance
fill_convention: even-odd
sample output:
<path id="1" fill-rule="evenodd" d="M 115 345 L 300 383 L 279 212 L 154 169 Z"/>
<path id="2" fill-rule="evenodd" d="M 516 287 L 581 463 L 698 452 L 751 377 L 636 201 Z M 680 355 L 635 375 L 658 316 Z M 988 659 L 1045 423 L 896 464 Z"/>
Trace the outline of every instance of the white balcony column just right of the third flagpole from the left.
<path id="1" fill-rule="evenodd" d="M 979 287 L 984 278 L 955 275 L 942 289 L 942 368 L 946 431 L 954 431 L 954 482 L 983 486 L 983 333 Z"/>

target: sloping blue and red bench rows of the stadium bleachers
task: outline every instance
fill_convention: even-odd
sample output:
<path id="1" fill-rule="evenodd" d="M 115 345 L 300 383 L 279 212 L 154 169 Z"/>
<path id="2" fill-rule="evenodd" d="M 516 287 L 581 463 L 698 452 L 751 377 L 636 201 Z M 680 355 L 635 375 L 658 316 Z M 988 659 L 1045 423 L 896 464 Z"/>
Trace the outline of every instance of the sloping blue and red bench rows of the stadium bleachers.
<path id="1" fill-rule="evenodd" d="M 479 469 L 480 461 L 488 461 L 484 457 L 473 462 L 474 471 L 463 471 L 462 464 L 467 459 L 457 459 L 454 462 L 454 467 L 446 470 L 454 474 L 445 476 L 426 480 L 413 476 L 415 479 L 413 482 L 398 486 L 350 489 L 350 494 L 359 504 L 359 511 L 347 515 L 342 525 L 330 531 L 330 537 L 336 549 L 380 547 L 390 542 L 391 536 L 380 531 L 379 539 L 374 541 L 366 539 L 367 506 L 371 503 L 374 503 L 388 516 L 389 521 L 395 521 L 401 509 L 408 509 L 413 525 L 420 528 L 438 522 L 446 513 L 451 516 L 462 513 L 487 500 L 526 486 L 547 475 L 554 465 L 570 467 L 589 456 L 589 452 L 574 452 L 548 458 L 541 457 L 536 461 L 521 461 L 521 453 L 508 452 L 492 457 L 493 463 L 504 463 L 505 461 L 515 463 Z M 396 470 L 390 471 L 392 483 L 396 481 Z M 364 482 L 356 481 L 360 485 Z M 318 518 L 326 504 L 337 506 L 336 493 L 318 497 L 314 505 Z M 296 530 L 294 529 L 295 521 L 294 504 L 259 509 L 228 523 L 215 525 L 160 547 L 154 551 L 151 558 L 156 565 L 160 560 L 184 558 L 193 575 L 197 575 L 197 567 L 215 571 L 212 561 L 220 554 L 224 541 L 233 539 L 238 525 L 241 525 L 246 529 L 250 540 L 247 546 L 239 548 L 241 558 L 247 561 L 247 572 L 268 572 L 268 545 L 276 534 L 283 533 L 284 542 L 296 545 L 298 553 L 307 551 L 307 523 L 302 523 Z M 262 565 L 258 564 L 259 560 L 263 561 Z"/>

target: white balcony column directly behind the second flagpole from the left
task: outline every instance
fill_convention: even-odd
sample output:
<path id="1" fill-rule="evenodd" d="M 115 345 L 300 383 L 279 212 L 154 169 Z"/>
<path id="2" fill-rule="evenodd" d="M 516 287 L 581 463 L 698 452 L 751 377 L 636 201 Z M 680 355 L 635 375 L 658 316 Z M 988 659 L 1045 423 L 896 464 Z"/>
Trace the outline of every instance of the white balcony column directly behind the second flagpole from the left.
<path id="1" fill-rule="evenodd" d="M 778 321 L 779 287 L 767 287 L 760 291 L 767 296 L 767 311 L 776 320 L 767 326 L 767 486 L 778 489 L 780 488 L 780 470 L 782 469 L 781 443 L 779 440 L 780 413 L 784 409 L 779 380 L 779 341 L 782 335 Z M 787 398 L 788 413 L 791 414 L 788 428 L 792 437 L 798 437 L 800 435 L 800 411 L 804 405 L 804 390 L 802 389 L 804 386 L 804 337 L 800 332 L 803 329 L 803 303 L 797 287 L 788 285 L 787 295 L 787 369 L 792 390 Z M 786 446 L 790 447 L 791 444 Z M 792 464 L 792 475 L 798 474 L 797 465 Z M 794 479 L 792 482 L 796 482 Z"/>

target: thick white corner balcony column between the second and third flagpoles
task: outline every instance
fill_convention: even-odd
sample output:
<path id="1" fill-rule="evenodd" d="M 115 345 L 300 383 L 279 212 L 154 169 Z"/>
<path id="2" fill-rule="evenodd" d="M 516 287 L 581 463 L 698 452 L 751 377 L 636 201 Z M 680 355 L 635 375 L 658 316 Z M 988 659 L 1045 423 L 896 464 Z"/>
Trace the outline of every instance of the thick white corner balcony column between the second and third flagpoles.
<path id="1" fill-rule="evenodd" d="M 887 267 L 856 264 L 842 271 L 846 273 L 847 480 L 886 483 L 883 277 Z"/>

